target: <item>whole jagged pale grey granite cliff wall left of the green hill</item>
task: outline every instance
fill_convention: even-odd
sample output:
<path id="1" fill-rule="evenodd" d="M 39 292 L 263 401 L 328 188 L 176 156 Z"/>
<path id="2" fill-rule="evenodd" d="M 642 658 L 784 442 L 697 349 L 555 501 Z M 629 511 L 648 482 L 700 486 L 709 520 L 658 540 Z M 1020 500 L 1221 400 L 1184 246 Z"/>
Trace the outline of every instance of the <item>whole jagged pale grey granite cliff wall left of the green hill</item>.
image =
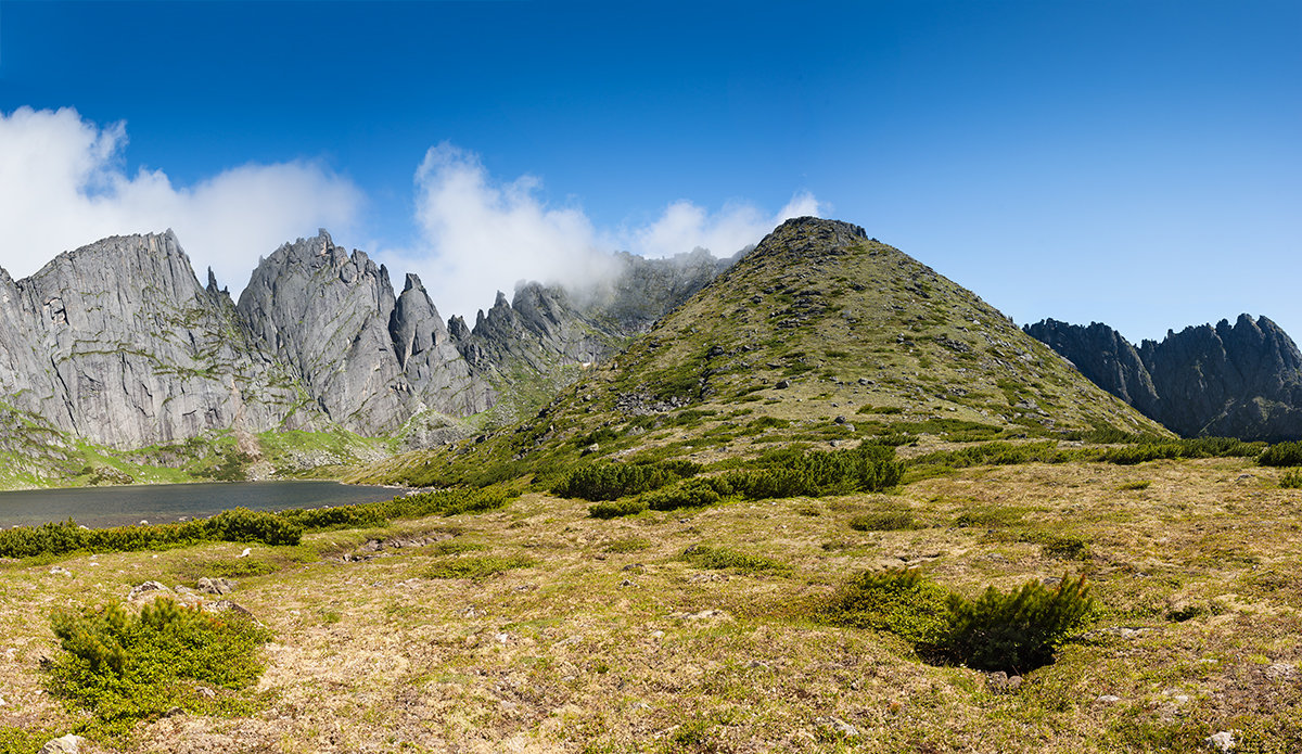
<path id="1" fill-rule="evenodd" d="M 516 382 L 605 358 L 719 270 L 618 264 L 577 300 L 499 294 L 471 329 L 444 324 L 415 275 L 395 296 L 388 270 L 324 230 L 263 259 L 238 305 L 211 271 L 199 284 L 171 230 L 105 238 L 25 280 L 0 270 L 0 408 L 113 448 L 329 427 L 439 441 Z"/>

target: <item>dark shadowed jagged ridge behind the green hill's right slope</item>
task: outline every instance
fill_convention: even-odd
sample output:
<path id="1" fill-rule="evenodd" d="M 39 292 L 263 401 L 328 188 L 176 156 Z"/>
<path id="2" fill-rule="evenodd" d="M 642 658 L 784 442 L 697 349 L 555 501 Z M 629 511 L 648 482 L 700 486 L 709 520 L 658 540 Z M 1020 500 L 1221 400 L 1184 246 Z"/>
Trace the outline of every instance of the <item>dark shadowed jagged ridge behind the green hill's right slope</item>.
<path id="1" fill-rule="evenodd" d="M 1242 314 L 1139 348 L 1105 324 L 1053 319 L 1026 332 L 1095 384 L 1185 436 L 1302 439 L 1302 354 L 1277 324 Z"/>

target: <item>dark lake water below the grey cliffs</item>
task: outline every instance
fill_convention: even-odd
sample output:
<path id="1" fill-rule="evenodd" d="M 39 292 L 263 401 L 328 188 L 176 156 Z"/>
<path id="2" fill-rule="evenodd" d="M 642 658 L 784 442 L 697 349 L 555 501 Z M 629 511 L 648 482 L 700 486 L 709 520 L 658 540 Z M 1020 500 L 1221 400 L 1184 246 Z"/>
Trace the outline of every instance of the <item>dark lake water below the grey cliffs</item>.
<path id="1" fill-rule="evenodd" d="M 169 524 L 189 516 L 214 516 L 229 508 L 281 510 L 392 500 L 401 490 L 336 482 L 221 482 L 206 484 L 142 484 L 73 487 L 0 492 L 0 526 L 35 526 L 76 518 L 78 524 L 122 526 Z"/>

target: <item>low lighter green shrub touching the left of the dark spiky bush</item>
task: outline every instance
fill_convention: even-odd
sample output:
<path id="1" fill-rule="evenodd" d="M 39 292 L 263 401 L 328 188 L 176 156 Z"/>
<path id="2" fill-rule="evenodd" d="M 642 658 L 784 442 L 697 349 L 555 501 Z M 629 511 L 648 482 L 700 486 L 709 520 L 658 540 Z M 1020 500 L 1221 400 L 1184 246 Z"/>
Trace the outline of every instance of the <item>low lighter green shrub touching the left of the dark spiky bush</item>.
<path id="1" fill-rule="evenodd" d="M 832 596 L 819 617 L 836 625 L 891 632 L 918 645 L 944 635 L 949 594 L 919 570 L 863 572 Z"/>

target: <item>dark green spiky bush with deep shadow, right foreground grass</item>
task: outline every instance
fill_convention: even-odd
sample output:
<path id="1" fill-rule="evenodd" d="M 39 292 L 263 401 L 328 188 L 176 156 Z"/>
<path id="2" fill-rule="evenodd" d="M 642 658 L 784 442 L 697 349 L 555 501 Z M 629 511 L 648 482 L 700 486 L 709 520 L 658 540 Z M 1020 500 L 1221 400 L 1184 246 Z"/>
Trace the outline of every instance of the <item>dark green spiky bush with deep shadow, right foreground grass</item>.
<path id="1" fill-rule="evenodd" d="M 1064 576 L 1053 590 L 1031 581 L 1009 593 L 991 586 L 975 600 L 950 595 L 937 649 L 982 671 L 1027 672 L 1053 662 L 1053 650 L 1087 625 L 1092 607 L 1085 576 Z"/>

